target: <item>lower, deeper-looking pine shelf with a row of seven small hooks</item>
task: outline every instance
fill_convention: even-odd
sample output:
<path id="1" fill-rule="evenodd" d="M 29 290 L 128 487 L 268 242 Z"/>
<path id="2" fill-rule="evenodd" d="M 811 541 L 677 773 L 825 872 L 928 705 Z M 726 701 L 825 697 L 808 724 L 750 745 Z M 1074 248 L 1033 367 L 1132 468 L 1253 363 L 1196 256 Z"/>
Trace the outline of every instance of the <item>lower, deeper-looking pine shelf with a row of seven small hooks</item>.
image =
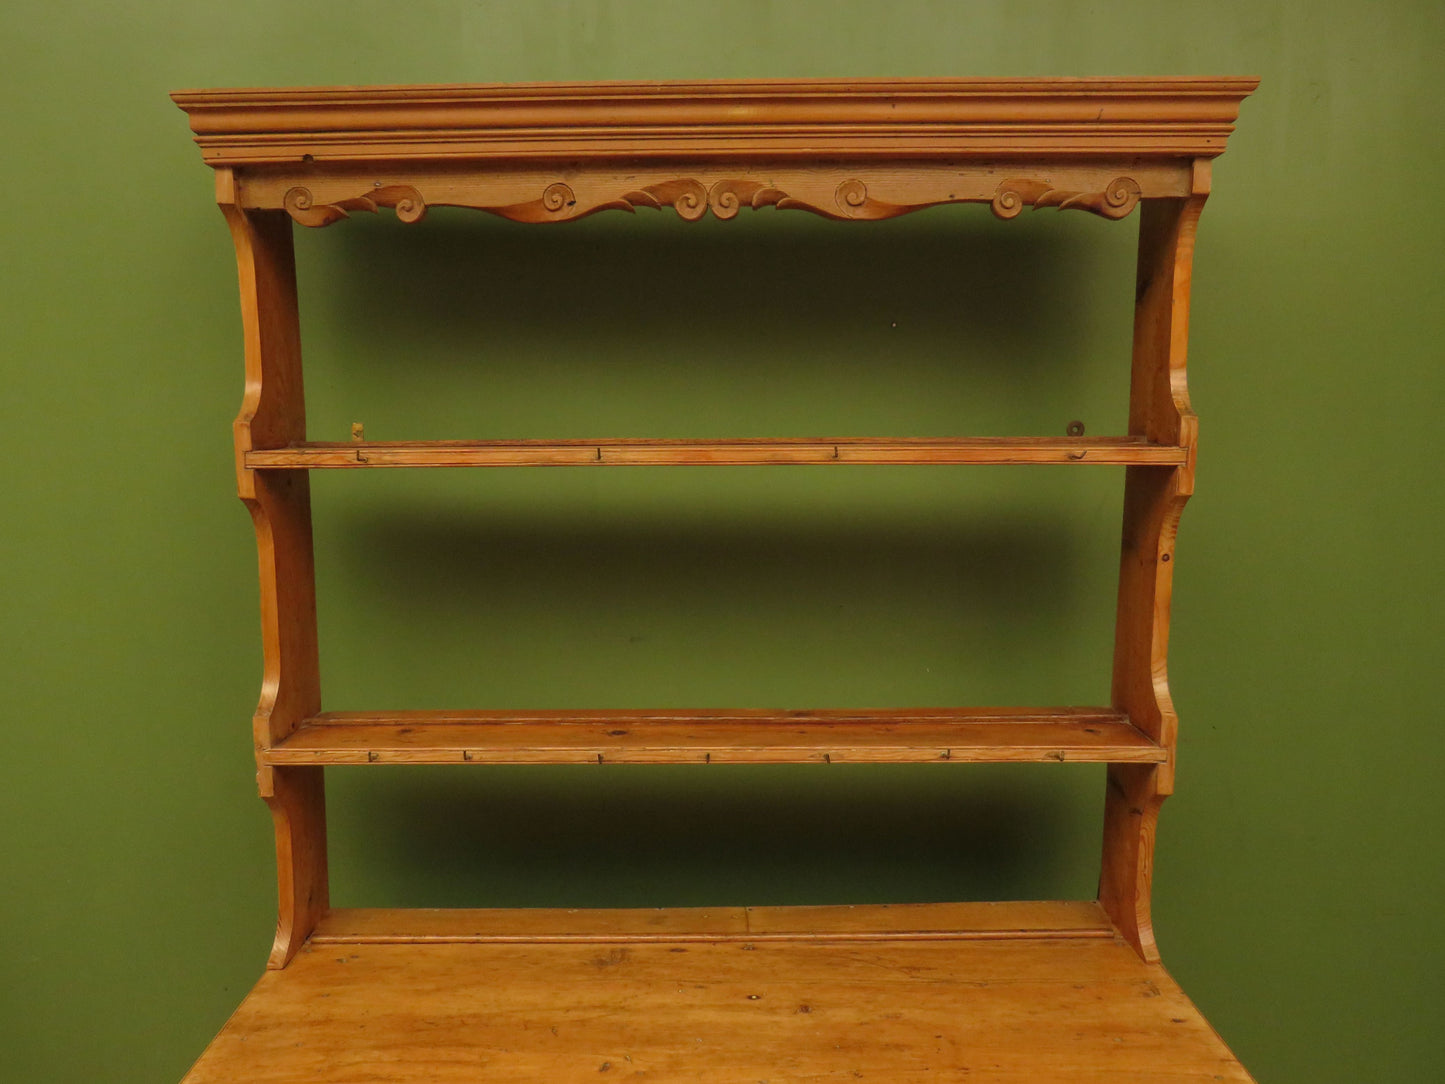
<path id="1" fill-rule="evenodd" d="M 1110 708 L 328 711 L 269 765 L 1163 763 Z"/>

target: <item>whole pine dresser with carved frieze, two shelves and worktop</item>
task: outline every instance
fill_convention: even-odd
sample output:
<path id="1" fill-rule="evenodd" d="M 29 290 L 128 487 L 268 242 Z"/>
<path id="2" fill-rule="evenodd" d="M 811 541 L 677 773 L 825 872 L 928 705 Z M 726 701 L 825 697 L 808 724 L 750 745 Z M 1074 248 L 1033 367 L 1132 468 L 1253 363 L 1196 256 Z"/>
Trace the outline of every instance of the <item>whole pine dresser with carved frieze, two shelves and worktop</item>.
<path id="1" fill-rule="evenodd" d="M 1173 791 L 1175 533 L 1195 227 L 1247 78 L 202 90 L 173 95 L 240 272 L 236 473 L 260 551 L 254 715 L 280 893 L 267 971 L 186 1084 L 640 1078 L 1248 1081 L 1159 961 Z M 838 223 L 939 204 L 1137 223 L 1120 435 L 309 441 L 295 224 L 470 207 L 517 223 L 757 208 Z M 344 225 L 341 228 L 345 228 Z M 1123 465 L 1111 702 L 1059 708 L 324 711 L 309 471 L 627 464 Z M 334 909 L 331 765 L 1107 765 L 1092 900 L 646 911 Z M 601 766 L 601 767 L 598 767 Z M 712 769 L 717 770 L 717 769 Z M 825 770 L 825 769 L 819 769 Z"/>

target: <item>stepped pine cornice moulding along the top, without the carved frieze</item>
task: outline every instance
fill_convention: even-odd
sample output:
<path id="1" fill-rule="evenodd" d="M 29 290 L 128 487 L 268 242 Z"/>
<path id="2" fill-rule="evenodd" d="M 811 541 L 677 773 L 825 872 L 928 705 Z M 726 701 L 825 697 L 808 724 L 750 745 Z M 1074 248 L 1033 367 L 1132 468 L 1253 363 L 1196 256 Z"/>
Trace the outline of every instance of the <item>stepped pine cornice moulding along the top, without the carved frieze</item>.
<path id="1" fill-rule="evenodd" d="M 214 166 L 1211 158 L 1253 78 L 738 79 L 178 91 Z"/>

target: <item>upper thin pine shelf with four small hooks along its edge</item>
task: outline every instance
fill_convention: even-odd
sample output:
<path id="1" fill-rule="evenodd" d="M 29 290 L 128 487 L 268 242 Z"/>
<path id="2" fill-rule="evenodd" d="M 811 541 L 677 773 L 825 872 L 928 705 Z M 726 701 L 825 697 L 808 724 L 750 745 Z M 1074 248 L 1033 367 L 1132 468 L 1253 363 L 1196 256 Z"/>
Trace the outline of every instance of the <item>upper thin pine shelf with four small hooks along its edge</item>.
<path id="1" fill-rule="evenodd" d="M 744 464 L 1152 464 L 1188 448 L 1142 436 L 799 436 L 590 441 L 303 441 L 247 451 L 250 470 L 357 467 L 704 467 Z"/>

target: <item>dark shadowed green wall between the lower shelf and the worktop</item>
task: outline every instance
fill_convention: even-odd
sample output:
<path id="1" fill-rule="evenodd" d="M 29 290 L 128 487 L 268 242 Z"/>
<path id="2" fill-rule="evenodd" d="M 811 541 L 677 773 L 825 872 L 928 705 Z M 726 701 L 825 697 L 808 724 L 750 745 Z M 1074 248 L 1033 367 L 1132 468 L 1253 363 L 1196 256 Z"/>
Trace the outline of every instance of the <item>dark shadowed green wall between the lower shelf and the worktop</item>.
<path id="1" fill-rule="evenodd" d="M 1098 877 L 1079 815 L 1103 795 L 1095 766 L 386 775 L 331 776 L 338 906 L 1085 899 Z"/>

